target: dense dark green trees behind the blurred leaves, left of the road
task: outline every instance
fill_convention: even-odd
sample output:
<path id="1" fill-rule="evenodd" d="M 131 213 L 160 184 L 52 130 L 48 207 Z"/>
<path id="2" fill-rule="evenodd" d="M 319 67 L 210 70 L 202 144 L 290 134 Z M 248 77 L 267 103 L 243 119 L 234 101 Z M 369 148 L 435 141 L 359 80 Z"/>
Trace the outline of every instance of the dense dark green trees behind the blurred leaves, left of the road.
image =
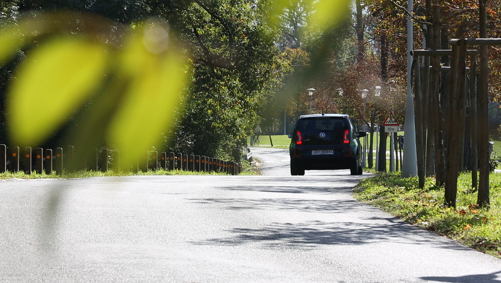
<path id="1" fill-rule="evenodd" d="M 183 46 L 190 58 L 186 72 L 191 77 L 184 86 L 183 107 L 177 109 L 176 130 L 165 133 L 166 148 L 238 160 L 244 138 L 278 86 L 284 65 L 276 33 L 252 0 L 14 0 L 3 2 L 2 7 L 5 23 L 8 19 L 16 22 L 26 13 L 98 15 L 115 23 L 109 27 L 115 38 L 121 37 L 121 29 L 134 30 L 145 19 L 166 20 L 177 34 L 171 40 Z M 68 34 L 78 32 L 73 29 Z M 12 68 L 4 65 L 3 85 Z"/>

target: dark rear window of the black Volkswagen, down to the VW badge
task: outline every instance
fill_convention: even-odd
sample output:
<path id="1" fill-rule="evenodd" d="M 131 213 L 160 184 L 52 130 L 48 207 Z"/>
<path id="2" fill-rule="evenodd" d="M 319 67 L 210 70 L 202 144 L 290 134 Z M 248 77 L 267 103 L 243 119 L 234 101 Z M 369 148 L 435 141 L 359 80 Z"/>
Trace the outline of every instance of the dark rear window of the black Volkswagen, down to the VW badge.
<path id="1" fill-rule="evenodd" d="M 344 117 L 303 118 L 297 121 L 296 126 L 305 146 L 343 145 L 344 133 L 348 128 L 348 119 Z"/>

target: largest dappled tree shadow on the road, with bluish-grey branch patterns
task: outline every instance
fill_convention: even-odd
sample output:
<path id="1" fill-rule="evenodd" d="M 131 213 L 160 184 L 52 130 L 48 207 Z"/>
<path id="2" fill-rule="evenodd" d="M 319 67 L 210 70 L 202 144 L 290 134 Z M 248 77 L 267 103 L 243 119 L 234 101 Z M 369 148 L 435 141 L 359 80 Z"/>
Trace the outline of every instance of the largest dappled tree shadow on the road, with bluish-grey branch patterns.
<path id="1" fill-rule="evenodd" d="M 374 242 L 391 242 L 469 250 L 453 241 L 437 241 L 436 236 L 433 237 L 432 234 L 402 221 L 396 219 L 379 220 L 386 221 L 386 224 L 381 225 L 380 221 L 374 221 L 374 224 L 321 221 L 272 223 L 261 229 L 234 228 L 227 231 L 232 234 L 230 237 L 212 238 L 192 243 L 224 246 L 260 243 L 270 249 L 284 247 L 315 249 L 321 245 L 364 245 Z"/>

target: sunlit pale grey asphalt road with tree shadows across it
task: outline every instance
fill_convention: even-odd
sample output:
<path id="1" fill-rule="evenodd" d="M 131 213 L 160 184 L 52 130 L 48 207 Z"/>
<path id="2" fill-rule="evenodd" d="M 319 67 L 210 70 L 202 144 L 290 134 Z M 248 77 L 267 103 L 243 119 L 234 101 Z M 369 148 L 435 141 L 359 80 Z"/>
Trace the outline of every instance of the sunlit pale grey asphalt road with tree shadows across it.
<path id="1" fill-rule="evenodd" d="M 335 173 L 0 181 L 0 281 L 501 282 Z"/>

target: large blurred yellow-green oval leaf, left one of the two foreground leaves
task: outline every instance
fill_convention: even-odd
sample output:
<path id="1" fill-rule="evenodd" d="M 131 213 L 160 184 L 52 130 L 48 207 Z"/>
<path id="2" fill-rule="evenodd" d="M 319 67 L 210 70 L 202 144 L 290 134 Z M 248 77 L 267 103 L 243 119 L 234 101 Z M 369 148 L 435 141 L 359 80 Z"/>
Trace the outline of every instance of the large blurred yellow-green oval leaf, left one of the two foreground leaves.
<path id="1" fill-rule="evenodd" d="M 104 79 L 107 53 L 100 44 L 52 39 L 28 54 L 9 91 L 10 131 L 15 142 L 38 145 Z"/>

